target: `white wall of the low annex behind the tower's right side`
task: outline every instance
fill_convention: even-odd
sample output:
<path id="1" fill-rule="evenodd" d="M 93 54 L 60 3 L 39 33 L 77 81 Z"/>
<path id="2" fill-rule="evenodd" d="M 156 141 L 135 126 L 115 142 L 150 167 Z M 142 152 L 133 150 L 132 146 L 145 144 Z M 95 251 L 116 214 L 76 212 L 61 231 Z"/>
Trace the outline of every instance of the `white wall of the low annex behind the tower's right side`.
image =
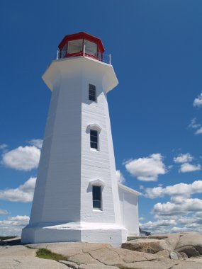
<path id="1" fill-rule="evenodd" d="M 140 193 L 118 184 L 120 212 L 123 226 L 128 234 L 139 235 L 138 195 Z"/>

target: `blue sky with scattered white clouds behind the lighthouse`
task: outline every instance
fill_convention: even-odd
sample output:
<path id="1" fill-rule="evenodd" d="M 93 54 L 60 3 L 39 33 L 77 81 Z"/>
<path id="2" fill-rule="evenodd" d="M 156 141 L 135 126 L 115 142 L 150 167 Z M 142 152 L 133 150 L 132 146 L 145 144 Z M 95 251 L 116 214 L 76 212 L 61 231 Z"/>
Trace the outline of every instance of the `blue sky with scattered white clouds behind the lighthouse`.
<path id="1" fill-rule="evenodd" d="M 28 222 L 50 103 L 41 76 L 64 35 L 80 31 L 112 55 L 116 168 L 142 193 L 141 226 L 202 232 L 201 8 L 200 0 L 1 3 L 0 234 Z"/>

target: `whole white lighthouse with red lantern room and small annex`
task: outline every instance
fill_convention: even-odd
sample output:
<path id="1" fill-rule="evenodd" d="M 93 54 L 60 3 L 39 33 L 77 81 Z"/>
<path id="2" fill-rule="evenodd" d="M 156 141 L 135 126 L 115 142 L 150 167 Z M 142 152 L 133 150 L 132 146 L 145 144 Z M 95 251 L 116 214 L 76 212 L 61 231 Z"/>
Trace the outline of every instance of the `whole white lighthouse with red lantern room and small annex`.
<path id="1" fill-rule="evenodd" d="M 140 193 L 116 176 L 107 93 L 118 79 L 111 60 L 103 61 L 101 39 L 81 32 L 66 35 L 58 47 L 43 74 L 52 97 L 22 242 L 120 246 L 139 233 Z"/>

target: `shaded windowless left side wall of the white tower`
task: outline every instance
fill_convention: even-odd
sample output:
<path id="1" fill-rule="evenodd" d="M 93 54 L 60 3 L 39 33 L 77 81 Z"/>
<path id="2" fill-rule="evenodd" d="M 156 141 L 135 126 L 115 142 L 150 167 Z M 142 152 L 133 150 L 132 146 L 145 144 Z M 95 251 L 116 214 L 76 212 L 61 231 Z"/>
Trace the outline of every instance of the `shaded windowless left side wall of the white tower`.
<path id="1" fill-rule="evenodd" d="M 53 84 L 30 224 L 80 221 L 82 76 L 71 73 Z"/>

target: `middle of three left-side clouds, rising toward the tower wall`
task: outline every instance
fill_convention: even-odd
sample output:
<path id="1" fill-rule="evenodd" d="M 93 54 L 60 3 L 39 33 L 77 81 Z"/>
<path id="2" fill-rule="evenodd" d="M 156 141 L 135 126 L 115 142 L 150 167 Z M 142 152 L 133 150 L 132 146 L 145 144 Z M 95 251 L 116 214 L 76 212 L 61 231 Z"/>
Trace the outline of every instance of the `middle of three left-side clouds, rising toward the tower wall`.
<path id="1" fill-rule="evenodd" d="M 0 200 L 10 202 L 31 202 L 35 188 L 36 178 L 29 178 L 23 185 L 18 188 L 0 190 Z"/>

